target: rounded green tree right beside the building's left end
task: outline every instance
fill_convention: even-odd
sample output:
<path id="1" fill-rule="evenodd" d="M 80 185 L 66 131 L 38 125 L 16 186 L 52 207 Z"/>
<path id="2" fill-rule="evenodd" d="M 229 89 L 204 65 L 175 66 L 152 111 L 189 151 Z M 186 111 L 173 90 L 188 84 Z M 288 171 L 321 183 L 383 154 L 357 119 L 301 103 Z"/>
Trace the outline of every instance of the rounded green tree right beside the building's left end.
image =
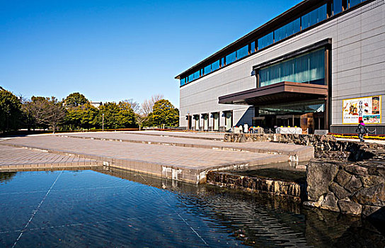
<path id="1" fill-rule="evenodd" d="M 170 101 L 161 99 L 154 103 L 152 113 L 149 114 L 151 123 L 157 125 L 159 128 L 162 125 L 168 127 L 176 127 L 179 125 L 179 111 Z"/>

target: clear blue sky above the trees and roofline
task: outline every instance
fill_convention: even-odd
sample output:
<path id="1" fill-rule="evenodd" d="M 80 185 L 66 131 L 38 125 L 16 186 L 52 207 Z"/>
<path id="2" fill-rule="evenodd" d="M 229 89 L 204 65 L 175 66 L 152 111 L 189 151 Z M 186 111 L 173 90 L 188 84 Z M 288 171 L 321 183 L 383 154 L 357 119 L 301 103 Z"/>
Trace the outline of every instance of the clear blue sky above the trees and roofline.
<path id="1" fill-rule="evenodd" d="M 0 0 L 0 86 L 179 106 L 177 74 L 299 2 Z"/>

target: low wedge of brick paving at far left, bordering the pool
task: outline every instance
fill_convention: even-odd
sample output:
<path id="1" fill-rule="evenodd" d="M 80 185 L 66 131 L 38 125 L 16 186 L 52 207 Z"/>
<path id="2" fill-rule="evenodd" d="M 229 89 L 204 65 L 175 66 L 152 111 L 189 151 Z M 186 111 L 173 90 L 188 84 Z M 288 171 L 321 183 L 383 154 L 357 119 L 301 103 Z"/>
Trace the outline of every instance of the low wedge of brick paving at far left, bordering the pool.
<path id="1" fill-rule="evenodd" d="M 28 150 L 0 144 L 0 171 L 52 167 L 86 167 L 96 164 L 96 161 L 93 159 Z"/>

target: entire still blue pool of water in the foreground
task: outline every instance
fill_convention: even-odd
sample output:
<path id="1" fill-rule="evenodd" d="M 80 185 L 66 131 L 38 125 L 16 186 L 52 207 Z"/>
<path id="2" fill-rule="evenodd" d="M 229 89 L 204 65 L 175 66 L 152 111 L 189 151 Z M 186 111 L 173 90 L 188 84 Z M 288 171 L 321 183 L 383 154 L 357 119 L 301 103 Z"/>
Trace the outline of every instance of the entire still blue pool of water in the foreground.
<path id="1" fill-rule="evenodd" d="M 384 247 L 381 227 L 120 170 L 0 173 L 0 247 Z"/>

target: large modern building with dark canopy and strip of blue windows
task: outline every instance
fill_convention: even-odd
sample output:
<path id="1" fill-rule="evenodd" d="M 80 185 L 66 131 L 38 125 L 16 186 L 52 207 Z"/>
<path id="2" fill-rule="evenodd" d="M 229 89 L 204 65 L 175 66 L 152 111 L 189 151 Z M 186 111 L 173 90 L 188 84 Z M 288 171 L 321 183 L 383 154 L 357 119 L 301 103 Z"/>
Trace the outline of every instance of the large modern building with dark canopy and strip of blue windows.
<path id="1" fill-rule="evenodd" d="M 182 128 L 384 134 L 385 1 L 301 1 L 176 79 Z"/>

